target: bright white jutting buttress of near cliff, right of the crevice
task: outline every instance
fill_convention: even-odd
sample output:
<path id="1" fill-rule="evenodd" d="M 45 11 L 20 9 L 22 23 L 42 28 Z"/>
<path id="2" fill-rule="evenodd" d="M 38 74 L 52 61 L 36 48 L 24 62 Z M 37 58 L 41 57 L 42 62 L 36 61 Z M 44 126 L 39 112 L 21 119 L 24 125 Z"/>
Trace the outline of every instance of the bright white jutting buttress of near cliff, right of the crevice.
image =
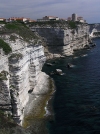
<path id="1" fill-rule="evenodd" d="M 24 107 L 29 100 L 29 92 L 37 84 L 41 67 L 45 62 L 42 46 L 27 47 L 21 50 L 21 59 L 10 57 L 10 84 L 13 103 L 13 114 L 23 115 Z M 16 54 L 15 54 L 16 55 Z M 19 55 L 19 54 L 18 54 Z"/>

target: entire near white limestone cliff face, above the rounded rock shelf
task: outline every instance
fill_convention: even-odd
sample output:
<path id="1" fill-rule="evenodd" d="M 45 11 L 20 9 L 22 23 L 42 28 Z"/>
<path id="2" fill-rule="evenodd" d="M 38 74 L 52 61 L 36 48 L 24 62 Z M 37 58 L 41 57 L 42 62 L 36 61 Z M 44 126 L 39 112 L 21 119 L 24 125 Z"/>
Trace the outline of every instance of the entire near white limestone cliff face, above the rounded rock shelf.
<path id="1" fill-rule="evenodd" d="M 43 46 L 29 45 L 20 38 L 10 41 L 9 37 L 1 37 L 10 44 L 12 53 L 0 55 L 0 109 L 12 113 L 17 123 L 21 123 L 29 93 L 37 85 L 46 57 Z"/>

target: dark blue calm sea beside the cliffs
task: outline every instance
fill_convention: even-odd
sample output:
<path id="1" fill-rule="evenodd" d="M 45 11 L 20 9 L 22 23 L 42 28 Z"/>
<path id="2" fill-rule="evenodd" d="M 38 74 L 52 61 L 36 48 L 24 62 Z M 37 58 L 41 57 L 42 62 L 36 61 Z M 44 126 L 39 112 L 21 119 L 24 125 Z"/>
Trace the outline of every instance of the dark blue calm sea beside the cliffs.
<path id="1" fill-rule="evenodd" d="M 47 126 L 50 134 L 100 134 L 100 38 L 94 41 L 97 46 L 90 50 L 44 65 L 47 74 L 57 68 L 65 73 L 51 75 L 56 93 L 54 120 Z M 68 69 L 67 63 L 73 68 Z"/>

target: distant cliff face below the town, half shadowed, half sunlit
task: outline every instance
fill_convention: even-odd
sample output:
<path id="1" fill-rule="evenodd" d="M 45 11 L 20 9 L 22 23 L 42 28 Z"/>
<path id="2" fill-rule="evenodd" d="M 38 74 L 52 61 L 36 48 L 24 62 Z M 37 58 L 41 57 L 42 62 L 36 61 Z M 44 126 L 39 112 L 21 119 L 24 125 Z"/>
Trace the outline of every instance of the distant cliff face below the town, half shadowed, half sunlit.
<path id="1" fill-rule="evenodd" d="M 76 29 L 33 26 L 31 30 L 42 36 L 52 54 L 71 55 L 74 50 L 88 45 L 89 26 L 87 24 L 77 25 Z"/>

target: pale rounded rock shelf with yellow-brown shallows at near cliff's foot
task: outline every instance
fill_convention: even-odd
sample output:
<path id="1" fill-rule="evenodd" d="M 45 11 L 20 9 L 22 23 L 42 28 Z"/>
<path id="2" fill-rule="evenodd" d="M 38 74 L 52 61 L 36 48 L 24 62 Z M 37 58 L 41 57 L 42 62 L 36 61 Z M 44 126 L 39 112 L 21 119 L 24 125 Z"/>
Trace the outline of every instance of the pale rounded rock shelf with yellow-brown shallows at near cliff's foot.
<path id="1" fill-rule="evenodd" d="M 41 125 L 51 119 L 49 119 L 51 116 L 50 111 L 50 114 L 47 114 L 47 107 L 48 101 L 52 98 L 54 92 L 55 85 L 53 80 L 42 72 L 37 87 L 30 94 L 29 102 L 25 108 L 22 126 L 27 131 L 30 130 L 32 133 L 37 134 L 41 134 L 42 131 L 45 131 L 47 134 L 46 125 L 44 125 L 44 127 L 41 127 Z M 49 107 L 51 106 L 49 105 Z"/>

